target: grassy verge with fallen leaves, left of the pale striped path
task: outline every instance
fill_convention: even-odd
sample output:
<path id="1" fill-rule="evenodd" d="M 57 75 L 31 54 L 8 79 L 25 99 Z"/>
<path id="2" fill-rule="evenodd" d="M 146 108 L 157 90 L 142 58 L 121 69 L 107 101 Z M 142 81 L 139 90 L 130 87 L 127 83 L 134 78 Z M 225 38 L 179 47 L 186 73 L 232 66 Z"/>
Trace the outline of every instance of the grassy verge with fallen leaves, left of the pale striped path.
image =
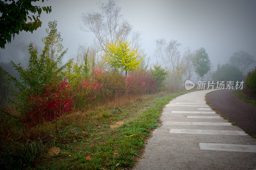
<path id="1" fill-rule="evenodd" d="M 123 169 L 141 158 L 161 109 L 191 91 L 120 97 L 53 122 L 21 125 L 1 112 L 1 169 Z M 123 121 L 115 129 L 110 125 Z M 61 153 L 47 156 L 52 146 Z M 29 154 L 28 154 L 29 153 Z"/>

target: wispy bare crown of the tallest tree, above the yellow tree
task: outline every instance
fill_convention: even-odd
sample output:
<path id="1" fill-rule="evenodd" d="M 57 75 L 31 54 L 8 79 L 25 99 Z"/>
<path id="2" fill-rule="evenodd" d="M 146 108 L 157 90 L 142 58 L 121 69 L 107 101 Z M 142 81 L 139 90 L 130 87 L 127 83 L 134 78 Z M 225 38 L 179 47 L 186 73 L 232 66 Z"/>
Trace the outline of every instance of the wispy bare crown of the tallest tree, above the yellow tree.
<path id="1" fill-rule="evenodd" d="M 116 40 L 132 42 L 132 48 L 140 48 L 140 33 L 132 31 L 131 24 L 122 18 L 121 8 L 117 6 L 116 0 L 108 0 L 99 3 L 99 12 L 88 11 L 80 16 L 80 29 L 92 32 L 97 45 L 101 51 L 106 51 L 108 42 L 115 43 Z"/>

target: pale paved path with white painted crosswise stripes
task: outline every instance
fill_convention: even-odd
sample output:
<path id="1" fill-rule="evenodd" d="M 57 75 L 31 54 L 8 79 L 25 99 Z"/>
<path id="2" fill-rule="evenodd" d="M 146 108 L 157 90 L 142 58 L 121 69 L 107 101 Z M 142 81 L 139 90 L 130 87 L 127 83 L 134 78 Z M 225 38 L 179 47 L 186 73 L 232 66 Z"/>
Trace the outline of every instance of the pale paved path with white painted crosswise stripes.
<path id="1" fill-rule="evenodd" d="M 164 107 L 162 126 L 135 170 L 256 169 L 256 140 L 205 104 L 210 91 L 184 94 Z"/>

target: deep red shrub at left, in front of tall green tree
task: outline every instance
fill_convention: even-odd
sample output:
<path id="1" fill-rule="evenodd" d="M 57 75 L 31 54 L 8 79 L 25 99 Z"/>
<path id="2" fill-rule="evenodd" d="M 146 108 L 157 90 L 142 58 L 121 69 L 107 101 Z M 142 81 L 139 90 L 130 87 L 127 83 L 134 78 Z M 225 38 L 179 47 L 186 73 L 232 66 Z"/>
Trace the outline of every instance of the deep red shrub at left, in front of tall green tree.
<path id="1" fill-rule="evenodd" d="M 24 119 L 29 124 L 41 122 L 42 118 L 50 121 L 70 112 L 73 95 L 66 79 L 46 85 L 42 95 L 28 96 L 29 112 Z"/>

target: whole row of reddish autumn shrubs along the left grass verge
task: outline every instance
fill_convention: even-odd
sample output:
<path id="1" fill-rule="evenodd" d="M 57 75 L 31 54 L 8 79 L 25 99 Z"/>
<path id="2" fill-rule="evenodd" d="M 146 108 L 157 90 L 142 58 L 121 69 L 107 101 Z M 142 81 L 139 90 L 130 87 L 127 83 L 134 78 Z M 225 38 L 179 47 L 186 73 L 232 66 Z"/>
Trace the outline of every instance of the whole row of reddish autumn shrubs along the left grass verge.
<path id="1" fill-rule="evenodd" d="M 129 94 L 150 93 L 156 88 L 156 79 L 148 71 L 130 72 L 127 78 Z M 83 78 L 73 87 L 66 79 L 56 79 L 54 84 L 45 85 L 38 95 L 28 96 L 30 110 L 24 121 L 28 124 L 35 124 L 43 119 L 51 121 L 69 113 L 73 104 L 84 107 L 105 99 L 113 99 L 117 95 L 124 95 L 125 89 L 124 75 L 106 72 L 100 68 L 93 70 L 91 78 Z"/>

